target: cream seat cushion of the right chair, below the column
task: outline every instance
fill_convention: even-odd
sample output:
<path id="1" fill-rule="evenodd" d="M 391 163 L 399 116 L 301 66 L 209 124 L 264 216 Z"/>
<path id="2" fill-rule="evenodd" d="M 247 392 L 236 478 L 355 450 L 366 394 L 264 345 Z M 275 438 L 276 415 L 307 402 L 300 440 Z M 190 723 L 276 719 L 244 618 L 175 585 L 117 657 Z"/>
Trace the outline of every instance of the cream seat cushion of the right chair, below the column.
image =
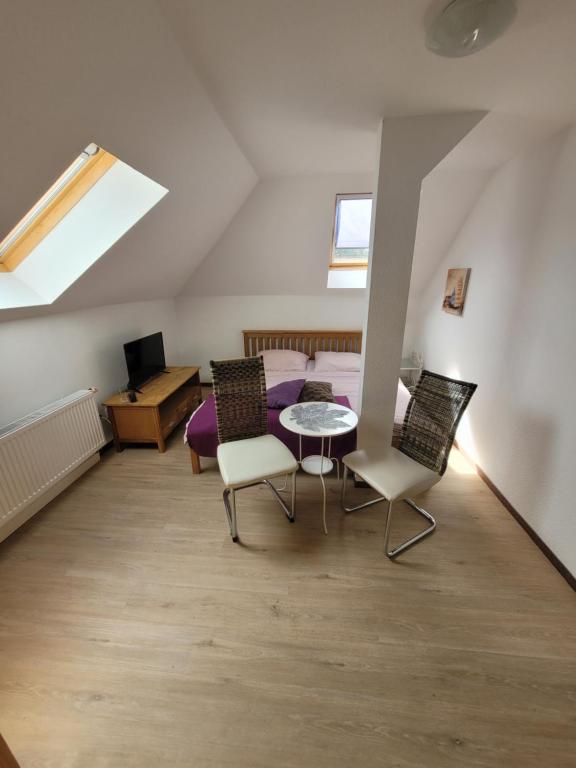
<path id="1" fill-rule="evenodd" d="M 388 501 L 418 496 L 441 480 L 436 472 L 396 448 L 378 454 L 354 451 L 344 456 L 343 462 Z"/>

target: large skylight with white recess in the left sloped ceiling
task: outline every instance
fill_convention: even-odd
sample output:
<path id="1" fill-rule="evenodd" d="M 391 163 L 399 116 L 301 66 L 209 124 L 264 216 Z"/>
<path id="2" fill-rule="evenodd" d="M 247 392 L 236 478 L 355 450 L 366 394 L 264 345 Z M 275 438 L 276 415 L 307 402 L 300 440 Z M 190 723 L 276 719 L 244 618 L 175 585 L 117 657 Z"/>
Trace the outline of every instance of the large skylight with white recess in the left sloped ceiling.
<path id="1" fill-rule="evenodd" d="M 167 192 L 88 145 L 0 243 L 0 309 L 55 301 Z"/>

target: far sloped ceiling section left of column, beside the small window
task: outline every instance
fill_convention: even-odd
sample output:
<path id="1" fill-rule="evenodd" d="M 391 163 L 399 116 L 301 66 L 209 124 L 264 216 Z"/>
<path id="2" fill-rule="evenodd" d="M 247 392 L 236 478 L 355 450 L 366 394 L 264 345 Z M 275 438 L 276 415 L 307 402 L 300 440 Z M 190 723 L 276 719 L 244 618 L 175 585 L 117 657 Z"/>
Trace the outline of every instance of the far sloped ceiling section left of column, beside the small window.
<path id="1" fill-rule="evenodd" d="M 326 282 L 336 194 L 372 191 L 370 173 L 262 179 L 182 293 L 334 295 Z"/>

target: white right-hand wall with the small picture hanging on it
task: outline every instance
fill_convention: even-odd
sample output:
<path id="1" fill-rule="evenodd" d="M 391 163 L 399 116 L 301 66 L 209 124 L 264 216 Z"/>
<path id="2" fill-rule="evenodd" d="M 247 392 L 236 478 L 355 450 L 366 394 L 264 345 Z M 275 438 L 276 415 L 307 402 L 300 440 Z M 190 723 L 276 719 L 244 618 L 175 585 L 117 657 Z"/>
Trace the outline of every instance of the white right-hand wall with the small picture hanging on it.
<path id="1" fill-rule="evenodd" d="M 576 130 L 492 177 L 421 301 L 427 368 L 478 382 L 458 439 L 576 574 Z M 448 267 L 471 267 L 464 314 Z"/>

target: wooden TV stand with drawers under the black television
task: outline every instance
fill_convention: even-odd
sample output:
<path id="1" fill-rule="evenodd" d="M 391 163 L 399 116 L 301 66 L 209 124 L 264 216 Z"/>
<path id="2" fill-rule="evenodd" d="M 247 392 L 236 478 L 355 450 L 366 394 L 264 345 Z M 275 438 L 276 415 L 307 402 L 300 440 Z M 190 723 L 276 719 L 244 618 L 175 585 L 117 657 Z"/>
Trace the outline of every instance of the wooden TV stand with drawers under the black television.
<path id="1" fill-rule="evenodd" d="M 166 371 L 140 387 L 135 403 L 126 402 L 122 395 L 104 403 L 117 451 L 123 443 L 156 443 L 164 453 L 168 435 L 202 402 L 200 368 L 172 365 Z"/>

